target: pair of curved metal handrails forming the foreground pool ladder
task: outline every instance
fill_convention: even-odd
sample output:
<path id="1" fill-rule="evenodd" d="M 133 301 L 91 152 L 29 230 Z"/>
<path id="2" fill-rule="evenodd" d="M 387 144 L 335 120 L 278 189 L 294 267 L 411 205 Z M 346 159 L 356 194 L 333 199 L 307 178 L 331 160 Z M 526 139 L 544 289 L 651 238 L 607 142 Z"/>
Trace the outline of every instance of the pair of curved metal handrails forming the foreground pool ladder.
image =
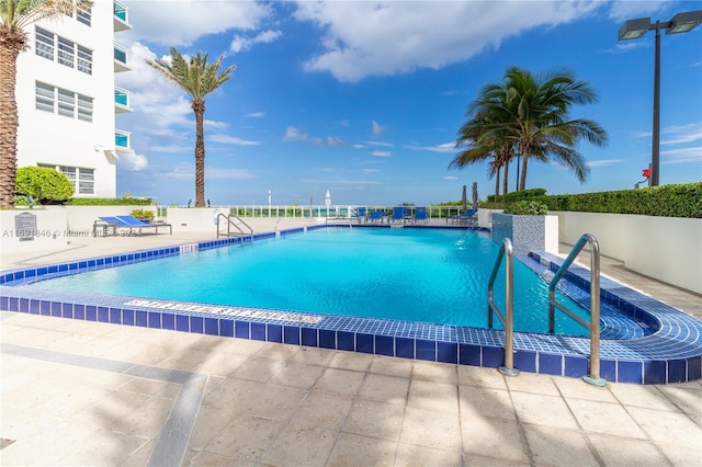
<path id="1" fill-rule="evenodd" d="M 590 246 L 590 320 L 581 318 L 574 311 L 566 308 L 563 304 L 556 300 L 556 285 L 563 278 L 568 267 L 573 264 L 586 243 Z M 487 324 L 488 328 L 492 328 L 492 314 L 497 315 L 502 328 L 505 328 L 505 365 L 498 369 L 500 373 L 508 376 L 519 375 L 519 369 L 514 368 L 514 351 L 513 351 L 513 334 L 514 334 L 514 317 L 513 317 L 513 252 L 512 242 L 509 238 L 502 240 L 500 250 L 498 252 L 495 265 L 492 266 L 492 273 L 488 282 L 487 289 Z M 495 303 L 492 286 L 495 278 L 500 269 L 500 264 L 505 258 L 505 314 L 502 314 Z M 570 250 L 570 253 L 563 262 L 558 271 L 556 271 L 554 277 L 548 284 L 548 332 L 555 332 L 555 310 L 556 308 L 563 311 L 566 316 L 575 320 L 578 324 L 588 328 L 590 330 L 590 357 L 588 360 L 588 375 L 582 379 L 598 387 L 607 386 L 607 380 L 600 377 L 600 247 L 591 234 L 585 234 L 578 239 L 576 244 Z"/>

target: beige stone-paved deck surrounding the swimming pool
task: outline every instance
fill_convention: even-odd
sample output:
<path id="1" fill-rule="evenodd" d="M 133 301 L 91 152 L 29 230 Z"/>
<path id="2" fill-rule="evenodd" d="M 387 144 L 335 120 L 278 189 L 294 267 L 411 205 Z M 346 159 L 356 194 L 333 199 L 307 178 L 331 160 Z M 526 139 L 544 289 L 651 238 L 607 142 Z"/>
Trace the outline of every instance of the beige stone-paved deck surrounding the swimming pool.
<path id="1" fill-rule="evenodd" d="M 303 223 L 284 227 L 295 224 Z M 0 266 L 211 238 L 86 238 L 52 254 L 3 251 Z M 702 315 L 698 295 L 607 258 L 601 266 L 604 276 Z M 702 380 L 596 388 L 8 311 L 0 328 L 2 465 L 702 465 Z"/>

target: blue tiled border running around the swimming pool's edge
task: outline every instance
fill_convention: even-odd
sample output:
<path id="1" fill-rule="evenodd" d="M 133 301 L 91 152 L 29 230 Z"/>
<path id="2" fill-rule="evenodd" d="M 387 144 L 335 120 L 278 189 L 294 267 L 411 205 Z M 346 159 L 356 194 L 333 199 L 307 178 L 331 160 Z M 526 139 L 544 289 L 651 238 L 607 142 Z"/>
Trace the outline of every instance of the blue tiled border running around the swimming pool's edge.
<path id="1" fill-rule="evenodd" d="M 24 283 L 35 281 L 37 276 L 112 267 L 326 227 L 348 228 L 343 224 L 301 227 L 257 234 L 245 240 L 218 239 L 2 272 L 0 273 L 0 308 L 67 319 L 431 362 L 483 367 L 503 365 L 505 335 L 502 331 L 494 329 L 147 300 L 168 304 L 168 309 L 165 310 L 154 306 L 126 305 L 134 300 L 144 301 L 137 297 L 67 294 L 22 287 Z M 465 229 L 465 227 L 455 228 Z M 545 277 L 553 274 L 563 262 L 561 258 L 548 253 L 531 253 L 530 257 L 520 257 L 519 260 Z M 562 284 L 566 294 L 582 301 L 587 298 L 587 293 L 584 291 L 589 291 L 589 272 L 573 265 Z M 683 383 L 702 378 L 702 321 L 605 277 L 601 278 L 600 285 L 603 307 L 615 306 L 638 320 L 644 327 L 653 329 L 649 334 L 630 339 L 602 339 L 600 374 L 603 378 L 610 381 L 634 384 Z M 199 311 L 199 308 L 204 311 Z M 212 312 L 212 308 L 218 308 L 219 311 Z M 276 319 L 276 315 L 279 317 L 286 315 L 288 318 L 296 315 L 307 319 L 316 317 L 314 319 L 316 322 Z M 581 377 L 588 372 L 589 340 L 585 338 L 516 332 L 514 352 L 514 366 L 524 372 L 569 377 Z"/>

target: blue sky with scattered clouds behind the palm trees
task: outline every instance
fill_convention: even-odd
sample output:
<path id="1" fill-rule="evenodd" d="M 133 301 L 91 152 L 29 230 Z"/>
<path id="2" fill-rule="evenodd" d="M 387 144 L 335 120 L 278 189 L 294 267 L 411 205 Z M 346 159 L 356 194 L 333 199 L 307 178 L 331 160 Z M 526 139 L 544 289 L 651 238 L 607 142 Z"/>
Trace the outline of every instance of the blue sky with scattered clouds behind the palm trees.
<path id="1" fill-rule="evenodd" d="M 126 1 L 134 29 L 115 41 L 133 71 L 134 153 L 117 195 L 194 200 L 194 117 L 186 95 L 146 59 L 171 46 L 224 55 L 233 78 L 206 99 L 205 197 L 213 205 L 429 205 L 462 186 L 495 191 L 487 164 L 449 170 L 465 109 L 511 65 L 568 69 L 599 102 L 573 109 L 609 134 L 578 147 L 579 183 L 557 164 L 529 166 L 550 194 L 627 190 L 650 162 L 654 32 L 618 42 L 627 19 L 667 21 L 702 2 L 659 1 Z M 702 180 L 702 27 L 661 35 L 660 184 Z M 511 170 L 510 191 L 514 190 Z"/>

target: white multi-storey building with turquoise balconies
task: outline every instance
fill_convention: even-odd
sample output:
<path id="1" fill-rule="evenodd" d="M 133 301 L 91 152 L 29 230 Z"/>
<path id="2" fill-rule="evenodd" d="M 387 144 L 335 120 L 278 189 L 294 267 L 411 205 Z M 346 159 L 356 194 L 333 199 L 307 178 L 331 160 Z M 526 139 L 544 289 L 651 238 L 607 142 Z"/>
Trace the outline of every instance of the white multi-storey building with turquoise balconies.
<path id="1" fill-rule="evenodd" d="M 115 114 L 132 112 L 129 93 L 114 86 L 128 71 L 115 33 L 131 30 L 117 1 L 29 26 L 30 49 L 18 58 L 18 167 L 53 167 L 75 197 L 115 197 L 116 161 L 131 151 Z"/>

